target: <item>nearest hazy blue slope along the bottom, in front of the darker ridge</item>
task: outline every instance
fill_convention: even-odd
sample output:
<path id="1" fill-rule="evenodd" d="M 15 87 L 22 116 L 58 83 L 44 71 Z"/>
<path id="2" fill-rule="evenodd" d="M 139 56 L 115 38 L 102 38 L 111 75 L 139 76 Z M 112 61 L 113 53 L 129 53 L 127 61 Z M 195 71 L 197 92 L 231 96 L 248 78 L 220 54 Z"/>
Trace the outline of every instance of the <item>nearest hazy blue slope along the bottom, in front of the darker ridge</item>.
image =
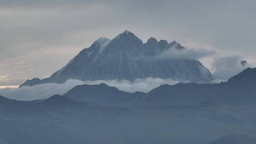
<path id="1" fill-rule="evenodd" d="M 59 95 L 43 102 L 1 97 L 0 144 L 208 144 L 256 135 L 255 119 L 251 105 L 121 108 Z"/>

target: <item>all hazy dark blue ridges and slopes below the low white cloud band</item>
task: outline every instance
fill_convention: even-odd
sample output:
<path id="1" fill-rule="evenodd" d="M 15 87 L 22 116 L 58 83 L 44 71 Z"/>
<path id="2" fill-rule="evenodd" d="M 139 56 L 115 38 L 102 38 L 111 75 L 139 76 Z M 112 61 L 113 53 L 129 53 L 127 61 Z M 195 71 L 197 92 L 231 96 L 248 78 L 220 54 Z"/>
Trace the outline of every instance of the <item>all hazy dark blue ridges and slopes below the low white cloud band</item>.
<path id="1" fill-rule="evenodd" d="M 37 101 L 0 96 L 0 144 L 255 144 L 255 80 L 247 68 L 149 93 L 99 84 Z"/>

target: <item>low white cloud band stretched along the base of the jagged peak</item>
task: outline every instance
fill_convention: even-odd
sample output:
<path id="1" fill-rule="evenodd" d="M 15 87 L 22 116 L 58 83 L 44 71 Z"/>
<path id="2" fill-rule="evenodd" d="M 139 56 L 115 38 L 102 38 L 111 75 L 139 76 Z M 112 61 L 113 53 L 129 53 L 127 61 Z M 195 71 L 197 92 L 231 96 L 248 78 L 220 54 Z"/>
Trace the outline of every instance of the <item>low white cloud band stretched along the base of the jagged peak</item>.
<path id="1" fill-rule="evenodd" d="M 159 87 L 163 84 L 174 85 L 179 81 L 173 81 L 171 79 L 159 79 L 159 78 L 146 78 L 146 79 L 137 79 L 134 82 L 130 81 L 79 81 L 79 80 L 68 80 L 63 84 L 57 83 L 47 83 L 39 84 L 33 87 L 21 87 L 21 88 L 6 88 L 0 89 L 0 95 L 9 99 L 17 100 L 33 100 L 33 99 L 47 99 L 55 94 L 63 95 L 68 90 L 71 90 L 76 85 L 82 84 L 100 84 L 106 83 L 109 86 L 118 88 L 119 90 L 126 92 L 149 92 L 156 87 Z"/>

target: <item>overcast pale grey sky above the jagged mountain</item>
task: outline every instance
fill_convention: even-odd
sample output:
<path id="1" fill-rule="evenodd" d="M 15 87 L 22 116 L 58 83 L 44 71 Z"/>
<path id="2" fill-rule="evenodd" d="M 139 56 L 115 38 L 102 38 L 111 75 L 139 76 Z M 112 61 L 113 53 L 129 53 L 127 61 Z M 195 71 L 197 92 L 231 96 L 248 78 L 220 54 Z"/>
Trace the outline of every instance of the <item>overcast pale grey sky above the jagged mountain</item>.
<path id="1" fill-rule="evenodd" d="M 125 29 L 255 63 L 255 26 L 256 0 L 0 0 L 0 85 L 50 76 Z"/>

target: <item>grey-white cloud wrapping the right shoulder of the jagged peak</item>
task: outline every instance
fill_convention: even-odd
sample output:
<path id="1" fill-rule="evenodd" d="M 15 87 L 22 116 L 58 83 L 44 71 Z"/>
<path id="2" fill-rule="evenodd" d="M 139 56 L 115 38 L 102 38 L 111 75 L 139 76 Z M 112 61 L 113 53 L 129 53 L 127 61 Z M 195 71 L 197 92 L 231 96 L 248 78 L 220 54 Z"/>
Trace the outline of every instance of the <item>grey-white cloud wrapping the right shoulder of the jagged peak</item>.
<path id="1" fill-rule="evenodd" d="M 193 45 L 183 50 L 172 47 L 158 55 L 157 58 L 199 60 L 212 72 L 216 81 L 227 81 L 244 69 L 255 67 L 254 64 L 248 63 L 242 54 L 221 51 L 209 45 Z"/>

